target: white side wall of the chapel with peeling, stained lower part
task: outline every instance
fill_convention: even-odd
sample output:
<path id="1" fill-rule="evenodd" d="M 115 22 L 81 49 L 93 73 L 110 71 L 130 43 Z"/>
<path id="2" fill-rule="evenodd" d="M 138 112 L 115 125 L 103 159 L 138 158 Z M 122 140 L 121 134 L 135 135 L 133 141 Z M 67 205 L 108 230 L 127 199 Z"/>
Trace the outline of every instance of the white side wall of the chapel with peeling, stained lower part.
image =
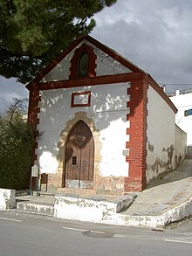
<path id="1" fill-rule="evenodd" d="M 147 91 L 147 183 L 175 167 L 175 113 L 149 86 Z"/>

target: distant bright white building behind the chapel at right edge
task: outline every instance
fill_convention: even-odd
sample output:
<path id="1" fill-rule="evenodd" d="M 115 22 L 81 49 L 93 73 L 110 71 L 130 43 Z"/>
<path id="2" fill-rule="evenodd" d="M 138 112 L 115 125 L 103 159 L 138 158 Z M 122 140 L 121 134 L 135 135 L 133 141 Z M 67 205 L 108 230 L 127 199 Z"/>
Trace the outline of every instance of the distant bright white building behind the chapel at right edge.
<path id="1" fill-rule="evenodd" d="M 187 133 L 187 144 L 192 146 L 192 115 L 184 116 L 184 111 L 192 108 L 192 93 L 180 94 L 176 91 L 176 95 L 170 97 L 170 100 L 178 109 L 175 123 Z"/>

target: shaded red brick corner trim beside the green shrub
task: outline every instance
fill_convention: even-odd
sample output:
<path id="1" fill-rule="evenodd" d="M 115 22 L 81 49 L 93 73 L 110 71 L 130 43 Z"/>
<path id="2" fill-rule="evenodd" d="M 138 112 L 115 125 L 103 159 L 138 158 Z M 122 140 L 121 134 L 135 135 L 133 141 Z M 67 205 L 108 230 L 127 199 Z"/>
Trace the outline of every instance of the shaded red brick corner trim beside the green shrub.
<path id="1" fill-rule="evenodd" d="M 39 102 L 41 97 L 39 95 L 39 90 L 37 84 L 33 85 L 33 89 L 30 91 L 30 100 L 29 100 L 29 107 L 28 107 L 28 123 L 30 124 L 31 128 L 33 129 L 33 133 L 36 138 L 36 142 L 34 143 L 34 148 L 32 152 L 32 161 L 34 163 L 35 160 L 38 159 L 38 156 L 35 154 L 35 150 L 38 149 L 38 124 L 39 118 L 38 113 L 40 112 Z"/>

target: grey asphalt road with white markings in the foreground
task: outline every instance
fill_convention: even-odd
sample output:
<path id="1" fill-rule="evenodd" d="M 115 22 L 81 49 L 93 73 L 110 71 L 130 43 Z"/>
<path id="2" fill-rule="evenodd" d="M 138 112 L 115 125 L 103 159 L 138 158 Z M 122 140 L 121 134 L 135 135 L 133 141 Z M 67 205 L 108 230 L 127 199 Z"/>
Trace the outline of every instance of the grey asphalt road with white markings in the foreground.
<path id="1" fill-rule="evenodd" d="M 165 231 L 0 211 L 0 256 L 192 255 L 192 222 Z"/>

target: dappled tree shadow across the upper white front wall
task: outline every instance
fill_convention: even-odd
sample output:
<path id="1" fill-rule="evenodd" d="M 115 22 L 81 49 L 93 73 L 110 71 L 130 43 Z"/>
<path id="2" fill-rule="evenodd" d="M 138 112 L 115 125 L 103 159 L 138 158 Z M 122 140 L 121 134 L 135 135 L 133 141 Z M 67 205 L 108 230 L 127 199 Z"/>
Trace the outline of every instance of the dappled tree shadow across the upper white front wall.
<path id="1" fill-rule="evenodd" d="M 102 85 L 86 87 L 86 90 L 92 89 L 93 91 L 91 107 L 71 107 L 71 90 L 54 89 L 43 91 L 40 102 L 39 128 L 42 129 L 40 132 L 44 132 L 44 135 L 39 141 L 41 147 L 38 150 L 38 154 L 41 155 L 42 152 L 48 151 L 52 156 L 58 155 L 60 133 L 65 129 L 67 121 L 72 120 L 75 113 L 79 111 L 87 112 L 87 116 L 93 119 L 95 127 L 99 128 L 99 130 L 106 129 L 113 121 L 120 120 L 126 123 L 127 114 L 129 114 L 129 117 L 134 115 L 135 107 L 140 104 L 141 99 L 137 99 L 137 104 L 131 109 L 130 113 L 129 108 L 127 108 L 127 101 L 129 100 L 127 95 L 128 86 L 118 86 L 116 84 L 112 88 L 113 93 L 110 93 L 110 86 L 107 86 L 106 91 L 97 90 L 99 87 L 102 89 Z M 82 87 L 73 88 L 74 92 L 82 90 Z M 41 126 L 41 124 L 44 124 L 44 126 Z M 124 132 L 126 135 L 126 129 Z"/>

